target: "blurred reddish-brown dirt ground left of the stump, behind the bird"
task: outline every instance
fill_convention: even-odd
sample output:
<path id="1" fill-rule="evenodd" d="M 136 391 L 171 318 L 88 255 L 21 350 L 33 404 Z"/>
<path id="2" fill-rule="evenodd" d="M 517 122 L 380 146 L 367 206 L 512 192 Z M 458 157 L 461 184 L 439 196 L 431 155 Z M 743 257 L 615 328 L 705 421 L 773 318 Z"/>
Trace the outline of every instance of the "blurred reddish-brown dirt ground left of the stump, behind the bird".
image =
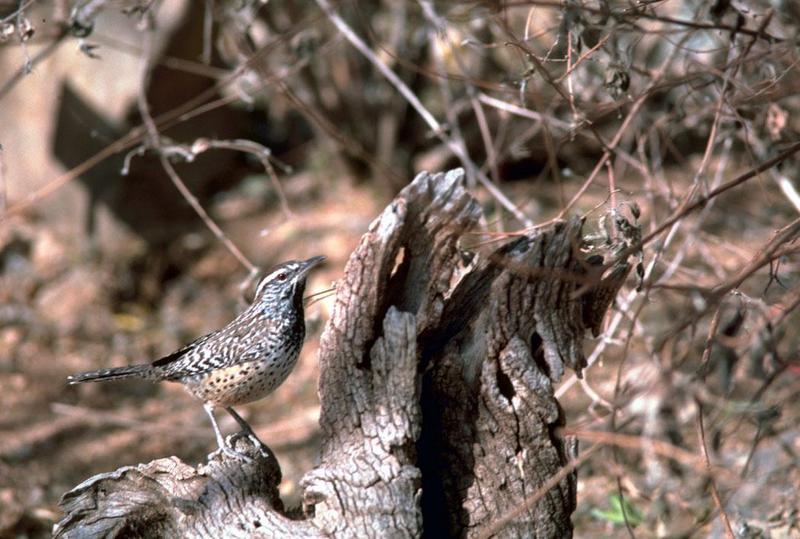
<path id="1" fill-rule="evenodd" d="M 292 181 L 307 187 L 314 180 Z M 291 197 L 291 219 L 258 211 L 226 228 L 264 267 L 325 254 L 308 283 L 313 294 L 338 278 L 377 214 L 378 201 L 363 193 L 343 184 L 323 201 Z M 60 496 L 89 476 L 169 455 L 200 462 L 215 449 L 202 406 L 179 384 L 69 386 L 66 377 L 156 359 L 220 327 L 244 304 L 238 288 L 246 272 L 212 242 L 185 259 L 184 273 L 154 302 L 130 303 L 120 289 L 141 261 L 76 255 L 70 238 L 35 219 L 19 219 L 2 235 L 0 536 L 46 536 Z M 298 503 L 297 481 L 316 458 L 316 349 L 330 302 L 307 308 L 308 336 L 292 376 L 240 410 L 281 463 L 287 505 Z M 226 414 L 219 419 L 227 433 L 237 430 Z"/>

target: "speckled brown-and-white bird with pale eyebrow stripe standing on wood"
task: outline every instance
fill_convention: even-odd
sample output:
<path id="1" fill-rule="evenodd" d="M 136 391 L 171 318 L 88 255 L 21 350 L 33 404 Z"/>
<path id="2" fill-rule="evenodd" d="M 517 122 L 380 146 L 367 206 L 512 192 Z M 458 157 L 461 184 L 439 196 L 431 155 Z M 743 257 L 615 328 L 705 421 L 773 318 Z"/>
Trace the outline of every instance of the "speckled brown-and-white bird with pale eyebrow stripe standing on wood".
<path id="1" fill-rule="evenodd" d="M 253 302 L 239 316 L 168 356 L 152 363 L 83 372 L 68 377 L 67 381 L 80 384 L 142 378 L 179 382 L 203 402 L 219 448 L 226 455 L 243 457 L 226 445 L 214 410 L 224 409 L 257 447 L 262 445 L 233 406 L 266 397 L 294 368 L 306 332 L 303 312 L 306 278 L 324 260 L 324 256 L 315 256 L 276 266 L 259 281 Z"/>

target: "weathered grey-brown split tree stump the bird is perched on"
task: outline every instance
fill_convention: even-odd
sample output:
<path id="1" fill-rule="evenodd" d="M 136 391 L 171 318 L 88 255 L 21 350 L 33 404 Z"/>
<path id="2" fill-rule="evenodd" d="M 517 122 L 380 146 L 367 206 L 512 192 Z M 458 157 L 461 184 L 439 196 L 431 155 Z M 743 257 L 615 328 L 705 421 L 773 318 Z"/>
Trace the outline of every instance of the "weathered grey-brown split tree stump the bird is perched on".
<path id="1" fill-rule="evenodd" d="M 498 536 L 571 536 L 574 472 L 524 502 L 577 451 L 554 433 L 553 385 L 580 373 L 627 267 L 600 279 L 579 219 L 473 249 L 481 208 L 463 176 L 419 174 L 350 256 L 321 338 L 322 454 L 302 511 L 284 510 L 271 452 L 236 437 L 251 462 L 170 457 L 84 481 L 55 535 L 477 537 L 517 509 Z"/>

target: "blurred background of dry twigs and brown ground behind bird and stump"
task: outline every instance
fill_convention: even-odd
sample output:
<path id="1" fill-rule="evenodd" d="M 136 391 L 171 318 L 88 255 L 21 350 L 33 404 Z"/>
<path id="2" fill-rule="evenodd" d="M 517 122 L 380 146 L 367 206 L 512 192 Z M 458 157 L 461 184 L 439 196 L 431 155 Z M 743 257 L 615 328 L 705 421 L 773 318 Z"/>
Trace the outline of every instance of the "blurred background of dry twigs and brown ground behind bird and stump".
<path id="1" fill-rule="evenodd" d="M 69 374 L 224 325 L 290 258 L 326 255 L 308 292 L 330 288 L 414 174 L 455 166 L 476 249 L 573 214 L 587 246 L 647 238 L 558 390 L 604 446 L 576 536 L 800 536 L 798 35 L 790 0 L 0 0 L 0 537 L 48 536 L 93 474 L 216 446 L 179 385 Z M 331 301 L 240 410 L 287 505 Z"/>

